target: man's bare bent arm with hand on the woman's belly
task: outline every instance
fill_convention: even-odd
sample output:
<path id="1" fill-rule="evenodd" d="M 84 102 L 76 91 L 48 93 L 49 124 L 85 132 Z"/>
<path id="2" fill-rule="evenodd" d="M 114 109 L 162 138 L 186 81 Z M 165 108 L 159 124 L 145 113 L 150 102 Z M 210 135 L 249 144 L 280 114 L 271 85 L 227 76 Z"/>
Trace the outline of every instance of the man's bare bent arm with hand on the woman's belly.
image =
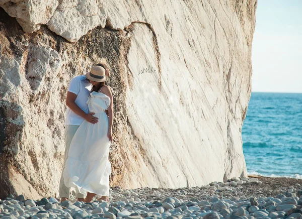
<path id="1" fill-rule="evenodd" d="M 77 98 L 77 94 L 72 92 L 67 92 L 66 97 L 66 106 L 70 108 L 75 114 L 78 114 L 80 117 L 83 117 L 87 122 L 96 124 L 98 123 L 98 118 L 94 117 L 94 113 L 86 114 L 78 105 L 75 103 L 75 99 Z"/>

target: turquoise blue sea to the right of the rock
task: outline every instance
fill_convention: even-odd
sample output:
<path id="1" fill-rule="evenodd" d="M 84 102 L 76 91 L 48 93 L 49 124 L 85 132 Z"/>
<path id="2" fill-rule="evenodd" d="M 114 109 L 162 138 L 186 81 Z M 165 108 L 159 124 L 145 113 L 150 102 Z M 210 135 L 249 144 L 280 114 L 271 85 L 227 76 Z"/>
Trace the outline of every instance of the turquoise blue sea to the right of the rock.
<path id="1" fill-rule="evenodd" d="M 248 174 L 302 179 L 302 93 L 252 92 L 242 139 Z"/>

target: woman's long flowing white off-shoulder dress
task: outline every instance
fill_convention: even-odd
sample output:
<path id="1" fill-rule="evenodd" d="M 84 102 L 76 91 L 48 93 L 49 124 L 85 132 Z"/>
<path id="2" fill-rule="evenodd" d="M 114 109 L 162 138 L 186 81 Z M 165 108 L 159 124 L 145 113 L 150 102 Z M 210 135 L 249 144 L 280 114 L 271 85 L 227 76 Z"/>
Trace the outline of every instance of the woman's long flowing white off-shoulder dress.
<path id="1" fill-rule="evenodd" d="M 110 105 L 110 98 L 94 91 L 87 104 L 89 112 L 95 113 L 99 122 L 91 124 L 84 120 L 74 134 L 63 172 L 64 184 L 82 194 L 91 192 L 109 196 L 109 119 L 104 110 Z"/>

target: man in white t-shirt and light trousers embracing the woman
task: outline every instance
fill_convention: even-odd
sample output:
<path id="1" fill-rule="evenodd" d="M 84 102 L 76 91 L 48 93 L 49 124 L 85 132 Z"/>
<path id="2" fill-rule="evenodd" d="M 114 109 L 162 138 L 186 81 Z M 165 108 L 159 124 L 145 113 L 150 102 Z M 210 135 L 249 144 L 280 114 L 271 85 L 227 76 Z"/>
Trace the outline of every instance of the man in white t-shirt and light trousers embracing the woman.
<path id="1" fill-rule="evenodd" d="M 104 66 L 103 64 L 97 64 L 98 66 Z M 105 67 L 105 66 L 104 66 Z M 105 68 L 106 69 L 106 68 Z M 105 74 L 109 76 L 109 71 L 106 69 Z M 85 75 L 80 75 L 71 79 L 66 97 L 66 120 L 65 120 L 65 156 L 64 156 L 64 165 L 60 179 L 59 186 L 59 195 L 61 201 L 68 200 L 70 194 L 70 188 L 66 187 L 63 179 L 63 171 L 65 168 L 65 162 L 68 158 L 69 146 L 71 140 L 77 132 L 81 123 L 86 120 L 89 123 L 96 124 L 98 123 L 98 118 L 94 117 L 94 113 L 89 113 L 87 100 L 90 96 L 90 90 L 92 88 L 91 83 Z M 107 113 L 107 112 L 106 112 Z M 86 194 L 81 194 L 77 192 L 75 197 L 79 201 L 85 201 Z"/>

